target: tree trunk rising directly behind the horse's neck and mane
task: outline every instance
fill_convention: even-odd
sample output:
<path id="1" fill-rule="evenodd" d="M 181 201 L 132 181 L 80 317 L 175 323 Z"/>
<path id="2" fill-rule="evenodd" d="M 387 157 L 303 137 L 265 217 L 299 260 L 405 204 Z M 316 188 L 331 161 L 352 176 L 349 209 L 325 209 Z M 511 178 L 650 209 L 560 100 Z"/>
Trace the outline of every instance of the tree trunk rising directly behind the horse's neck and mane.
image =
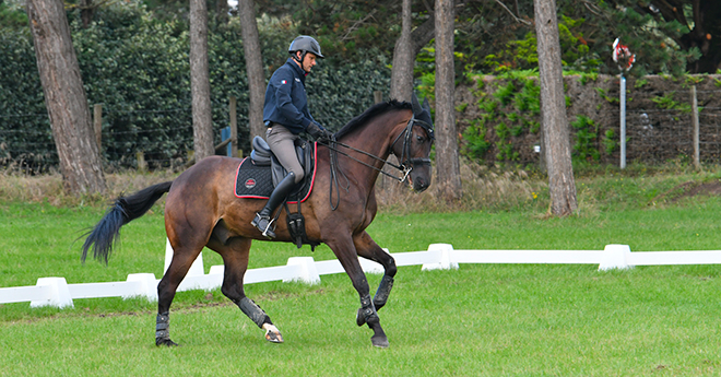
<path id="1" fill-rule="evenodd" d="M 410 102 L 411 94 L 413 93 L 413 64 L 415 62 L 415 54 L 413 54 L 413 43 L 411 40 L 411 26 L 413 23 L 411 17 L 411 0 L 403 0 L 401 19 L 401 36 L 395 42 L 395 49 L 393 50 L 390 97 Z"/>

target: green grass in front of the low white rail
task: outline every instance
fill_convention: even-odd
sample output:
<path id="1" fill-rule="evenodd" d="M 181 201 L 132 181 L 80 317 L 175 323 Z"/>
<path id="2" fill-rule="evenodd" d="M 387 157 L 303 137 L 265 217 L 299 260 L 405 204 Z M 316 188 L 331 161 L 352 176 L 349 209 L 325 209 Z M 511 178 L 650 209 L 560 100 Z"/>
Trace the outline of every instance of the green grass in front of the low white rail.
<path id="1" fill-rule="evenodd" d="M 716 268 L 401 268 L 380 313 L 389 350 L 353 321 L 344 275 L 249 292 L 285 335 L 270 344 L 234 306 L 172 314 L 178 349 L 153 345 L 151 310 L 0 327 L 0 375 L 718 375 Z M 378 276 L 371 276 L 375 284 Z M 38 352 L 42 351 L 42 352 Z M 31 356 L 32 355 L 32 356 Z"/>

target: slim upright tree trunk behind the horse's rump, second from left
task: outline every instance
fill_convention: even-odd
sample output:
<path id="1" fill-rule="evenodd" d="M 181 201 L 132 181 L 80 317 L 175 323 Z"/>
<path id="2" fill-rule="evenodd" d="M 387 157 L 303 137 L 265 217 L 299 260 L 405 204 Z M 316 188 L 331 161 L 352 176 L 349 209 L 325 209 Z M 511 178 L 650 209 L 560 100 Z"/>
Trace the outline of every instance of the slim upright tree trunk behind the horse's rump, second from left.
<path id="1" fill-rule="evenodd" d="M 190 0 L 190 92 L 196 161 L 215 154 L 208 68 L 208 5 Z"/>

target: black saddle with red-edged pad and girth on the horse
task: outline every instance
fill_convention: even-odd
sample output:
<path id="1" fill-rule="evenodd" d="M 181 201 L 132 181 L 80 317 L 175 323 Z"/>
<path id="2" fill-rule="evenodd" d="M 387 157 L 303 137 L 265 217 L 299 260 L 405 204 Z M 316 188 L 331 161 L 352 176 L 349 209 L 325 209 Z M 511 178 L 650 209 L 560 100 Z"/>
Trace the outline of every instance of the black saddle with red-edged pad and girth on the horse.
<path id="1" fill-rule="evenodd" d="M 271 152 L 265 140 L 256 137 L 251 144 L 250 158 L 244 158 L 238 166 L 235 196 L 245 199 L 269 199 L 273 188 L 287 175 L 287 170 Z M 308 239 L 305 219 L 300 213 L 300 203 L 306 201 L 310 197 L 310 191 L 312 191 L 316 178 L 316 146 L 303 139 L 295 140 L 296 155 L 300 166 L 303 166 L 305 176 L 283 204 L 285 212 L 287 212 L 291 237 L 293 237 L 298 248 L 303 244 L 308 244 L 311 250 L 315 250 L 319 244 Z M 298 212 L 291 213 L 287 204 L 296 203 L 298 204 Z"/>

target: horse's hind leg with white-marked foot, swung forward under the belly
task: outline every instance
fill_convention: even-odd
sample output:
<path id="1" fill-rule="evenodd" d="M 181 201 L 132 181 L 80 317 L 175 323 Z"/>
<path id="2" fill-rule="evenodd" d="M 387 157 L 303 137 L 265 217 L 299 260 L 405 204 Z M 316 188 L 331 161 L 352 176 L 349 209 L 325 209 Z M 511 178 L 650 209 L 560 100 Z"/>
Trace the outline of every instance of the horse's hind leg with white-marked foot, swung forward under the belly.
<path id="1" fill-rule="evenodd" d="M 273 343 L 283 343 L 283 335 L 273 325 L 270 317 L 252 299 L 248 298 L 243 288 L 243 276 L 248 269 L 250 255 L 249 238 L 234 237 L 225 244 L 211 239 L 208 246 L 223 257 L 225 274 L 221 291 L 259 328 L 265 330 L 265 340 Z"/>

